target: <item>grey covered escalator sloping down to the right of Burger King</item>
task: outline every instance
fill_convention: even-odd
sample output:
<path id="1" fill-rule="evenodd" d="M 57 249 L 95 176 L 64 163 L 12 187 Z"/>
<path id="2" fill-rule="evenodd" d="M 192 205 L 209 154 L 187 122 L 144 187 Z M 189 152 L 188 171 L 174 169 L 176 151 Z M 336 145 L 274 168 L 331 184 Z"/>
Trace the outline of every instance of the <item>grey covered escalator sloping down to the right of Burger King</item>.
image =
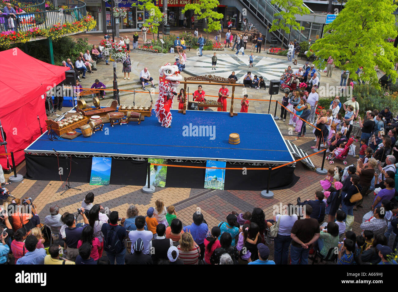
<path id="1" fill-rule="evenodd" d="M 219 0 L 219 2 L 222 5 L 235 6 L 241 12 L 246 9 L 247 14 L 244 17 L 250 19 L 250 22 L 253 23 L 259 31 L 269 32 L 269 29 L 272 27 L 272 21 L 281 18 L 281 16 L 275 16 L 281 9 L 271 4 L 271 0 Z M 300 42 L 308 41 L 308 36 L 294 29 L 291 29 L 290 39 L 289 33 L 285 33 L 282 29 L 269 32 L 269 34 L 275 37 L 285 48 L 287 48 L 289 40 L 293 41 L 297 39 L 300 40 Z M 267 35 L 268 41 L 271 40 L 269 34 Z"/>

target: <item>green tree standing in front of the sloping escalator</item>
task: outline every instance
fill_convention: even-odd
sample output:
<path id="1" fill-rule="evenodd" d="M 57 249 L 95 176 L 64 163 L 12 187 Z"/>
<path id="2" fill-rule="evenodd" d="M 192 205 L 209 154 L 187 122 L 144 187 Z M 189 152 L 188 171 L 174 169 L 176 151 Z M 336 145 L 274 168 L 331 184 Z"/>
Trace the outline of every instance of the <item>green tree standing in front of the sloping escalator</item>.
<path id="1" fill-rule="evenodd" d="M 275 19 L 272 21 L 272 27 L 269 32 L 283 30 L 285 33 L 291 33 L 291 30 L 302 31 L 304 27 L 296 21 L 296 14 L 309 14 L 310 10 L 306 8 L 302 0 L 272 0 L 271 4 L 277 5 L 281 12 L 275 13 Z M 282 44 L 283 45 L 283 44 Z"/>

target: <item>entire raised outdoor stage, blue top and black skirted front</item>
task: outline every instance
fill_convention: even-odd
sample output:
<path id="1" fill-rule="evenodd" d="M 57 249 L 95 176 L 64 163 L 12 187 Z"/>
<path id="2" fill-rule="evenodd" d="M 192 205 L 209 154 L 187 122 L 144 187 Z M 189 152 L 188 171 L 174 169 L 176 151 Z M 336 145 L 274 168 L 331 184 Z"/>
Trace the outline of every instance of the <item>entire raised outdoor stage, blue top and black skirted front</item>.
<path id="1" fill-rule="evenodd" d="M 167 164 L 206 166 L 207 160 L 226 161 L 226 190 L 264 190 L 268 170 L 294 161 L 272 115 L 172 110 L 171 128 L 160 126 L 154 111 L 140 125 L 105 124 L 91 137 L 51 141 L 47 132 L 25 149 L 27 178 L 34 180 L 89 182 L 93 156 L 112 157 L 110 184 L 144 186 L 148 158 L 164 158 Z M 198 130 L 195 131 L 195 126 Z M 199 133 L 200 132 L 200 133 Z M 240 143 L 228 143 L 230 133 L 240 135 Z M 55 151 L 62 155 L 57 155 Z M 72 160 L 72 161 L 71 161 Z M 294 166 L 271 171 L 270 188 L 289 186 Z M 59 168 L 62 167 L 63 174 Z M 244 171 L 247 168 L 247 171 Z M 204 168 L 168 167 L 166 187 L 203 188 Z"/>

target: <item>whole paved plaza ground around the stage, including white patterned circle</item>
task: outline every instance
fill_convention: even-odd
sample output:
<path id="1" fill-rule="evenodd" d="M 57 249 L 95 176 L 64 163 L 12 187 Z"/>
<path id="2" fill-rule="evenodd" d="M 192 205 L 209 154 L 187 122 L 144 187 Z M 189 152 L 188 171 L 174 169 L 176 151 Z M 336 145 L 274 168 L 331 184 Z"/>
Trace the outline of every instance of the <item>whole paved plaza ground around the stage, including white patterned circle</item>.
<path id="1" fill-rule="evenodd" d="M 172 33 L 174 33 L 172 31 Z M 132 34 L 127 34 L 132 39 Z M 76 35 L 75 37 L 88 37 L 90 44 L 98 44 L 102 39 L 100 34 L 84 34 Z M 264 50 L 266 52 L 266 50 Z M 247 53 L 246 53 L 247 52 Z M 283 70 L 287 66 L 291 65 L 293 69 L 303 66 L 306 59 L 299 59 L 298 65 L 294 66 L 292 62 L 287 61 L 287 57 L 280 56 L 267 56 L 265 52 L 261 54 L 254 53 L 254 68 L 248 68 L 248 56 L 250 55 L 249 50 L 245 52 L 245 56 L 241 54 L 235 55 L 230 49 L 224 51 L 217 51 L 219 58 L 217 62 L 217 70 L 211 70 L 211 56 L 213 51 L 204 51 L 203 56 L 197 56 L 197 52 L 193 49 L 187 51 L 187 62 L 183 77 L 189 77 L 192 75 L 218 75 L 222 77 L 228 77 L 232 71 L 238 75 L 238 82 L 241 83 L 243 75 L 248 71 L 252 71 L 253 74 L 262 75 L 267 83 L 270 79 L 279 79 Z M 135 104 L 143 105 L 150 103 L 150 96 L 148 93 L 144 93 L 141 90 L 141 85 L 138 83 L 140 71 L 147 67 L 155 81 L 155 85 L 158 87 L 159 80 L 159 68 L 167 62 L 174 63 L 174 54 L 151 54 L 141 51 L 131 52 L 132 72 L 130 80 L 123 79 L 123 73 L 121 73 L 122 66 L 117 64 L 117 76 L 119 89 L 125 89 L 129 91 L 121 91 L 121 104 L 131 105 L 133 104 L 133 92 L 135 94 Z M 113 68 L 112 66 L 105 66 L 104 61 L 98 62 L 98 71 L 94 71 L 93 74 L 87 73 L 86 79 L 82 79 L 83 88 L 90 88 L 94 83 L 95 79 L 100 79 L 107 88 L 112 88 L 113 81 Z M 329 85 L 339 85 L 340 72 L 335 69 L 332 78 L 326 78 L 326 73 L 321 72 L 321 85 L 322 81 L 328 81 Z M 327 79 L 327 80 L 326 80 Z M 150 87 L 150 86 L 149 86 Z M 148 87 L 148 88 L 149 88 Z M 192 93 L 196 90 L 196 85 L 191 85 L 189 92 Z M 219 86 L 203 84 L 203 90 L 206 95 L 216 96 L 219 91 Z M 270 96 L 268 95 L 268 89 L 256 90 L 247 89 L 249 99 L 255 99 L 250 101 L 249 112 L 253 113 L 267 113 L 269 108 Z M 237 89 L 235 93 L 236 98 L 242 98 L 242 89 Z M 112 102 L 112 92 L 106 93 L 106 99 L 101 100 L 101 106 L 109 106 Z M 282 94 L 274 95 L 272 100 L 275 99 L 280 101 Z M 156 101 L 158 98 L 158 89 L 154 90 L 152 99 Z M 217 97 L 211 97 L 209 99 L 217 100 Z M 177 107 L 177 102 L 174 102 L 174 108 Z M 230 99 L 228 99 L 227 108 L 230 108 Z M 270 111 L 274 112 L 275 102 L 271 103 Z M 68 108 L 64 108 L 68 110 Z M 240 100 L 234 103 L 234 111 L 240 112 Z M 277 115 L 280 114 L 280 106 L 277 109 Z M 55 116 L 50 116 L 55 118 Z M 143 123 L 142 126 L 145 126 Z M 256 125 L 252 125 L 256 127 Z M 288 120 L 283 122 L 277 121 L 277 126 L 281 130 L 283 137 L 288 140 L 292 140 L 296 145 L 301 147 L 304 151 L 312 154 L 310 148 L 315 143 L 313 142 L 314 137 L 311 130 L 307 130 L 307 136 L 300 140 L 294 141 L 295 134 L 293 129 L 289 128 Z M 311 133 L 311 134 L 310 134 Z M 359 147 L 357 147 L 358 149 Z M 320 167 L 322 164 L 322 155 L 313 155 L 311 157 L 312 162 L 316 167 Z M 349 157 L 348 162 L 355 162 L 355 157 Z M 335 165 L 343 166 L 341 161 L 336 161 Z M 326 168 L 329 164 L 325 165 Z M 18 173 L 25 175 L 26 168 L 25 162 L 21 163 L 17 167 Z M 10 176 L 5 175 L 6 179 Z M 275 205 L 286 205 L 287 203 L 295 204 L 297 197 L 304 199 L 314 199 L 315 191 L 322 190 L 319 181 L 324 179 L 324 176 L 316 174 L 313 170 L 310 170 L 304 166 L 301 162 L 297 162 L 295 169 L 295 176 L 298 177 L 297 183 L 289 189 L 275 190 L 273 199 L 264 199 L 260 196 L 259 191 L 230 191 L 230 190 L 207 190 L 207 189 L 189 189 L 189 188 L 156 188 L 156 192 L 152 194 L 145 194 L 141 191 L 142 186 L 124 186 L 124 185 L 109 185 L 109 186 L 93 186 L 85 183 L 70 182 L 70 185 L 74 188 L 80 188 L 80 190 L 68 190 L 66 193 L 61 195 L 62 183 L 59 181 L 33 181 L 23 180 L 20 183 L 14 183 L 10 185 L 9 189 L 12 195 L 17 198 L 32 197 L 33 203 L 37 206 L 39 217 L 42 221 L 46 215 L 49 215 L 49 206 L 56 203 L 60 207 L 60 213 L 74 212 L 81 206 L 81 202 L 85 195 L 92 191 L 96 195 L 94 203 L 100 203 L 104 207 L 109 207 L 112 211 L 118 211 L 120 217 L 126 217 L 127 207 L 134 204 L 138 207 L 140 215 L 145 215 L 148 207 L 154 207 L 154 202 L 158 198 L 164 199 L 166 206 L 174 205 L 178 218 L 182 220 L 183 224 L 188 225 L 192 222 L 192 214 L 197 207 L 201 208 L 203 216 L 209 225 L 209 228 L 216 226 L 220 221 L 226 220 L 226 215 L 231 211 L 238 213 L 252 211 L 254 207 L 260 207 L 264 210 L 266 219 L 272 219 L 273 206 Z M 187 178 L 189 179 L 189 178 Z M 63 183 L 65 185 L 65 183 Z M 373 200 L 373 195 L 365 197 L 364 205 Z M 355 223 L 353 230 L 360 232 L 359 224 L 362 222 L 362 216 L 368 210 L 359 209 L 354 211 Z M 273 259 L 273 244 L 270 246 L 271 255 L 270 259 Z"/>

